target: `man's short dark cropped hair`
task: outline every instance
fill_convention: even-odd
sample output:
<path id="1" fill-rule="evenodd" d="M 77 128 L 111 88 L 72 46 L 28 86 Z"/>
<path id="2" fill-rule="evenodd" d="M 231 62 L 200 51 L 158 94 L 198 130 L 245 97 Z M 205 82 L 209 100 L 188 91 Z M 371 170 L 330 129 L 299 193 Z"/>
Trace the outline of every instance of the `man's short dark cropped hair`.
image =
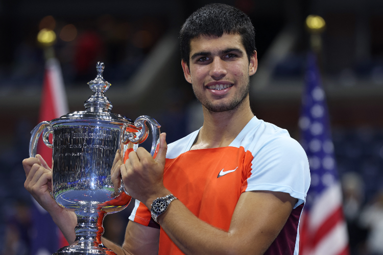
<path id="1" fill-rule="evenodd" d="M 254 26 L 245 13 L 224 4 L 206 5 L 186 19 L 180 31 L 181 59 L 189 66 L 192 39 L 202 35 L 221 37 L 223 33 L 241 35 L 250 61 L 256 49 Z"/>

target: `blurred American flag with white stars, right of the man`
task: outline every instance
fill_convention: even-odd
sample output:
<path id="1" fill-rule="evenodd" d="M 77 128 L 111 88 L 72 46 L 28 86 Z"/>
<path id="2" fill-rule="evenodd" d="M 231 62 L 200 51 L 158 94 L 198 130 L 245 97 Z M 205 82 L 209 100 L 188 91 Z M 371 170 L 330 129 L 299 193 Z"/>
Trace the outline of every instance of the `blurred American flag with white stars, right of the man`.
<path id="1" fill-rule="evenodd" d="M 307 56 L 299 118 L 301 144 L 310 165 L 311 185 L 300 223 L 301 255 L 348 255 L 342 190 L 331 141 L 328 110 L 313 53 Z"/>

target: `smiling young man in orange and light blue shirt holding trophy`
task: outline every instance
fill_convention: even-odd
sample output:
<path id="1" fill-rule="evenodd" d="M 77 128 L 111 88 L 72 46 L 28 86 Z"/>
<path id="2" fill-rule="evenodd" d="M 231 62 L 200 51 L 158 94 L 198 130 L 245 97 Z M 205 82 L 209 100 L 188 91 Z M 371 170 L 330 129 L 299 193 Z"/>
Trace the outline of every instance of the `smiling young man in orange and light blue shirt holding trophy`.
<path id="1" fill-rule="evenodd" d="M 203 126 L 169 147 L 161 134 L 155 160 L 143 148 L 125 164 L 116 158 L 113 183 L 118 187 L 122 176 L 137 201 L 123 246 L 103 243 L 118 254 L 298 254 L 307 157 L 287 131 L 250 109 L 257 58 L 249 17 L 208 5 L 186 20 L 180 38 L 182 69 L 203 106 Z M 25 186 L 70 243 L 75 217 L 49 195 L 50 171 L 39 160 L 23 161 Z"/>

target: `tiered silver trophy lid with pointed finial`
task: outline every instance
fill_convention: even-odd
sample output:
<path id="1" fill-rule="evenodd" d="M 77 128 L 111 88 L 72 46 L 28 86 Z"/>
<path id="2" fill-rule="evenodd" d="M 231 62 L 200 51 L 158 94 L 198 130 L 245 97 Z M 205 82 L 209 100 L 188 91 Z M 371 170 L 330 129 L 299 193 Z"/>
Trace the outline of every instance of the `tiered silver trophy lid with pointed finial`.
<path id="1" fill-rule="evenodd" d="M 106 120 L 107 122 L 114 123 L 132 123 L 132 120 L 125 116 L 114 114 L 111 112 L 112 104 L 108 97 L 104 95 L 104 92 L 109 89 L 111 84 L 104 80 L 103 71 L 105 65 L 103 62 L 97 62 L 97 77 L 91 80 L 87 84 L 89 88 L 94 92 L 84 103 L 85 111 L 76 111 L 61 116 L 58 119 L 52 120 L 52 122 L 62 122 L 76 120 L 79 121 L 84 119 L 86 121 L 92 120 Z"/>

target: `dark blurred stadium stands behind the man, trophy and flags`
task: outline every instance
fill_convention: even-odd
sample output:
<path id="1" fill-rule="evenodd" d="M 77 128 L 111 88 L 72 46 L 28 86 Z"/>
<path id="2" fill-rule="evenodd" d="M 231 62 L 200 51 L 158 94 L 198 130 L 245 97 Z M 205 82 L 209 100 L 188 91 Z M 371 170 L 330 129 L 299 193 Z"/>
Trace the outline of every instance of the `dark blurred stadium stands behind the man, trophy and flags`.
<path id="1" fill-rule="evenodd" d="M 372 253 L 383 241 L 383 1 L 227 0 L 252 19 L 258 72 L 251 79 L 252 110 L 299 140 L 305 60 L 305 18 L 326 21 L 319 53 L 334 151 L 343 185 L 351 254 Z M 193 11 L 213 1 L 0 1 L 0 251 L 30 254 L 29 193 L 21 161 L 38 123 L 44 53 L 41 29 L 52 29 L 70 112 L 83 110 L 86 83 L 105 63 L 112 112 L 150 115 L 167 142 L 202 125 L 200 106 L 180 66 L 178 31 Z M 146 145 L 147 146 L 147 145 Z M 366 208 L 375 208 L 370 216 Z M 105 236 L 122 242 L 128 210 L 105 219 Z M 378 228 L 380 224 L 380 228 Z M 376 229 L 377 228 L 377 229 Z M 380 232 L 379 232 L 380 230 Z M 17 244 L 13 253 L 5 248 Z"/>

